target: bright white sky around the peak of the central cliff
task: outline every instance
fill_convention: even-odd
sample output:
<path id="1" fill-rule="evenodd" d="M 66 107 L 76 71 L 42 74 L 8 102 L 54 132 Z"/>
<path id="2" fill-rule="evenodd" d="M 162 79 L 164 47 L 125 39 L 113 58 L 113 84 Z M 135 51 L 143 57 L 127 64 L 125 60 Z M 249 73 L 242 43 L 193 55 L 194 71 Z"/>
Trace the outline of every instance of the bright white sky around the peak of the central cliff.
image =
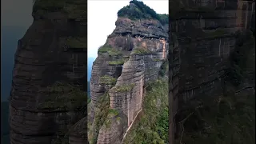
<path id="1" fill-rule="evenodd" d="M 98 47 L 115 28 L 118 10 L 130 0 L 88 0 L 88 58 L 96 58 Z M 142 0 L 158 14 L 168 14 L 168 0 Z"/>

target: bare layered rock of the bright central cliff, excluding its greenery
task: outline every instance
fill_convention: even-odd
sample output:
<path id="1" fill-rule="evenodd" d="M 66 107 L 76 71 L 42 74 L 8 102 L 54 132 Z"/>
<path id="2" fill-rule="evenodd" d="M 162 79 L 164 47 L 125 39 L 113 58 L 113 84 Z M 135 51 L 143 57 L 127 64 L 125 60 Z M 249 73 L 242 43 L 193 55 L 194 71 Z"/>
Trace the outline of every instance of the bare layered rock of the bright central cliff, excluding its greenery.
<path id="1" fill-rule="evenodd" d="M 94 123 L 98 103 L 105 93 L 109 94 L 107 101 L 110 108 L 118 110 L 120 115 L 106 118 L 105 121 L 110 121 L 110 128 L 104 124 L 99 127 L 98 144 L 122 142 L 127 128 L 142 110 L 144 87 L 158 78 L 158 71 L 169 50 L 166 26 L 162 26 L 158 20 L 118 18 L 115 24 L 116 29 L 107 38 L 102 50 L 109 46 L 120 54 L 111 56 L 99 49 L 90 79 L 92 102 L 89 117 L 90 122 Z M 112 64 L 120 59 L 125 61 Z M 106 76 L 114 78 L 115 82 L 102 83 L 101 78 Z M 116 123 L 118 118 L 120 123 Z"/>

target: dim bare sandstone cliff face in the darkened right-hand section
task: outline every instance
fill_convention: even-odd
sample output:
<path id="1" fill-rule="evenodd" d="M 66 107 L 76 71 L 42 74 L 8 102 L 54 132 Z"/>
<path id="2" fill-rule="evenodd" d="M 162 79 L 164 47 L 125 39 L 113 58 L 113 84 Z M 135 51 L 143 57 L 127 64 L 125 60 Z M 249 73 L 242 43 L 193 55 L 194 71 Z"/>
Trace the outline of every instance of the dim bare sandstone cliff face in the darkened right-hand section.
<path id="1" fill-rule="evenodd" d="M 178 90 L 186 100 L 206 92 L 215 94 L 214 90 L 219 89 L 218 78 L 225 76 L 234 49 L 234 33 L 250 28 L 254 2 L 209 0 L 182 4 L 186 8 L 171 27 L 181 59 Z"/>

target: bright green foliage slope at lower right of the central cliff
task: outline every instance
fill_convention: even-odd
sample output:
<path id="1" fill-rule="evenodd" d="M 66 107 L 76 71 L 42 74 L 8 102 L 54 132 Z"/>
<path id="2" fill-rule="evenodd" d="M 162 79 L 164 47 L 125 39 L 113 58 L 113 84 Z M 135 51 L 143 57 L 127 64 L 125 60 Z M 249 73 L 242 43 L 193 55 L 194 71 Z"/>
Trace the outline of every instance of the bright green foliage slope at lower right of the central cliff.
<path id="1" fill-rule="evenodd" d="M 124 144 L 168 143 L 168 82 L 159 79 L 147 86 L 142 114 L 134 122 Z"/>

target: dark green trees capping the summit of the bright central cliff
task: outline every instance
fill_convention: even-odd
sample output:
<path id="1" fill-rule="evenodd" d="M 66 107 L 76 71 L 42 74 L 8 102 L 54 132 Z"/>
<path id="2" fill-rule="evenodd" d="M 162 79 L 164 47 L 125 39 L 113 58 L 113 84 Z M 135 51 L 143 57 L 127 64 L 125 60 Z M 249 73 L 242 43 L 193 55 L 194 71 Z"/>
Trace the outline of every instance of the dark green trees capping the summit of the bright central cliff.
<path id="1" fill-rule="evenodd" d="M 157 19 L 162 25 L 169 22 L 168 14 L 157 14 L 149 6 L 146 6 L 143 2 L 132 0 L 131 4 L 135 6 L 125 6 L 118 11 L 118 17 L 127 17 L 130 19 L 141 19 L 141 18 L 154 18 Z"/>

